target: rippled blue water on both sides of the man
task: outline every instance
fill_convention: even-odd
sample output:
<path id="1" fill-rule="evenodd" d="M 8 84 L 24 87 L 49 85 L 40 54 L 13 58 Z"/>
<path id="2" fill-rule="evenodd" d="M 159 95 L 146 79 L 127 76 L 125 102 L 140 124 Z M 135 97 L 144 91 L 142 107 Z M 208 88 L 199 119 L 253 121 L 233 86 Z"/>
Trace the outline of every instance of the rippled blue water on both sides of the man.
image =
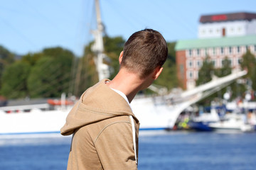
<path id="1" fill-rule="evenodd" d="M 0 136 L 0 169 L 66 169 L 70 137 Z M 139 169 L 255 170 L 256 132 L 169 132 L 139 137 Z"/>

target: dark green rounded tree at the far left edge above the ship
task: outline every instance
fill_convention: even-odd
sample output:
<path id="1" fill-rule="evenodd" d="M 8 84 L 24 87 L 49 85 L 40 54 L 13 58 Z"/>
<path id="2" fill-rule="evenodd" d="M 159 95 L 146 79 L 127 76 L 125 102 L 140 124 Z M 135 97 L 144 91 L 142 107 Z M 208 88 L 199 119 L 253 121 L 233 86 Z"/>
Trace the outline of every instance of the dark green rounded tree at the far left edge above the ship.
<path id="1" fill-rule="evenodd" d="M 26 79 L 30 65 L 25 62 L 14 62 L 6 68 L 2 77 L 1 95 L 8 98 L 24 98 L 28 95 Z"/>

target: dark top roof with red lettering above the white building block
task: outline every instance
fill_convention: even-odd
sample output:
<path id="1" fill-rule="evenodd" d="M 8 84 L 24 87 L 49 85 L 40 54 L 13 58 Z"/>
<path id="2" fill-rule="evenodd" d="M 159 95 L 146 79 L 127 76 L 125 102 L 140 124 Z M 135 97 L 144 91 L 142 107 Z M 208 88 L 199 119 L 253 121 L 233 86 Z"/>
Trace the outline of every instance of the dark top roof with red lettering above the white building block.
<path id="1" fill-rule="evenodd" d="M 221 13 L 215 15 L 206 15 L 201 16 L 200 23 L 213 23 L 213 22 L 221 22 L 221 21 L 236 21 L 236 20 L 247 20 L 251 21 L 252 19 L 256 19 L 256 13 Z"/>

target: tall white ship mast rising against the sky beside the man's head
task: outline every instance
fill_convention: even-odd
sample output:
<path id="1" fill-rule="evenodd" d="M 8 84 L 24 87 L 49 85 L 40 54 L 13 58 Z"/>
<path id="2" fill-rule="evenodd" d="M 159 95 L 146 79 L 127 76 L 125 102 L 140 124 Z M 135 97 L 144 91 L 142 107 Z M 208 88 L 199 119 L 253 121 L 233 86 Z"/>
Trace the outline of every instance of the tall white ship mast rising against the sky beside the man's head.
<path id="1" fill-rule="evenodd" d="M 95 43 L 92 45 L 92 52 L 95 52 L 95 65 L 97 69 L 97 74 L 99 80 L 110 77 L 110 66 L 105 64 L 105 62 L 109 61 L 107 55 L 104 52 L 103 38 L 102 34 L 104 31 L 104 26 L 100 17 L 100 3 L 99 0 L 95 0 L 95 8 L 96 8 L 96 17 L 97 17 L 97 30 L 92 30 L 92 35 L 95 37 Z"/>

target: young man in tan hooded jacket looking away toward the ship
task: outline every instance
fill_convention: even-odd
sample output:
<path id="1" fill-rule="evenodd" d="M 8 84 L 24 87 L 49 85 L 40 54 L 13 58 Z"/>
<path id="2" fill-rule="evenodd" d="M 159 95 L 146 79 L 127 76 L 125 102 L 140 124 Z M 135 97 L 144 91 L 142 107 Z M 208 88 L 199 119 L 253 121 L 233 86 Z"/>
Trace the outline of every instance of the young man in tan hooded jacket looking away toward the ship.
<path id="1" fill-rule="evenodd" d="M 87 89 L 61 129 L 62 135 L 73 134 L 68 169 L 137 169 L 139 120 L 129 103 L 159 77 L 167 53 L 156 30 L 127 40 L 116 77 Z"/>

